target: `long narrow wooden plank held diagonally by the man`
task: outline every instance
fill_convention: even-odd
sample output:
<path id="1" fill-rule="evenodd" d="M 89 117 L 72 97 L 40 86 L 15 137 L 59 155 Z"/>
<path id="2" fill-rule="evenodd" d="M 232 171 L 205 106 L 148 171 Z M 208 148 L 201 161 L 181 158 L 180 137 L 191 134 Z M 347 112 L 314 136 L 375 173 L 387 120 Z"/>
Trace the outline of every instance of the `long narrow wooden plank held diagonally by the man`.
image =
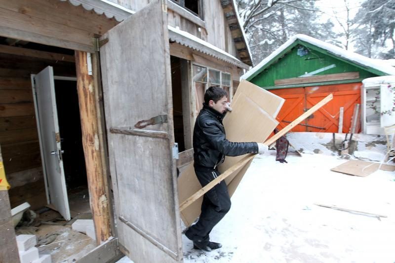
<path id="1" fill-rule="evenodd" d="M 276 142 L 281 136 L 283 136 L 285 133 L 290 131 L 294 126 L 298 125 L 301 121 L 306 119 L 308 116 L 311 114 L 315 113 L 319 108 L 324 106 L 326 103 L 331 101 L 333 99 L 333 95 L 329 94 L 326 98 L 324 98 L 322 101 L 317 103 L 315 106 L 313 106 L 309 111 L 306 113 L 303 113 L 300 115 L 297 119 L 295 119 L 292 123 L 287 125 L 284 129 L 280 130 L 278 133 L 276 133 L 273 137 L 271 137 L 269 140 L 264 142 L 265 145 L 271 145 L 272 143 Z M 231 168 L 226 170 L 223 174 L 218 176 L 216 179 L 211 181 L 208 185 L 205 187 L 201 188 L 199 191 L 197 191 L 194 195 L 192 195 L 190 198 L 185 200 L 183 203 L 180 204 L 180 211 L 184 210 L 186 207 L 188 207 L 191 203 L 196 201 L 199 197 L 201 197 L 204 193 L 206 193 L 208 190 L 213 188 L 216 184 L 220 183 L 222 180 L 233 174 L 237 169 L 240 169 L 242 166 L 244 166 L 246 163 L 248 163 L 250 160 L 254 158 L 255 154 L 249 154 L 245 156 L 241 161 L 237 162 L 235 165 L 233 165 Z"/>

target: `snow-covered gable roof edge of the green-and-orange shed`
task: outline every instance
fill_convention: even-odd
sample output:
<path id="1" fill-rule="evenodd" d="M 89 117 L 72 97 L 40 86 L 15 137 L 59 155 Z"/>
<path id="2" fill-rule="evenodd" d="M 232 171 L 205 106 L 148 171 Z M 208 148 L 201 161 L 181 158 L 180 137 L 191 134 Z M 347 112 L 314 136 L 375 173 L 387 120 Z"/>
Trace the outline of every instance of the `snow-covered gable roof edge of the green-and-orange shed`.
<path id="1" fill-rule="evenodd" d="M 284 44 L 282 44 L 279 48 L 277 48 L 272 54 L 270 54 L 268 57 L 266 57 L 264 60 L 262 60 L 258 65 L 256 65 L 254 68 L 252 68 L 246 74 L 242 75 L 240 78 L 247 79 L 250 76 L 257 73 L 258 71 L 260 71 L 264 66 L 266 66 L 270 61 L 272 61 L 274 58 L 276 58 L 276 56 L 278 56 L 282 51 L 287 49 L 290 45 L 292 45 L 298 39 L 305 41 L 307 43 L 310 43 L 312 45 L 315 45 L 317 47 L 320 47 L 322 49 L 325 49 L 338 57 L 349 60 L 349 61 L 354 62 L 356 64 L 360 64 L 360 65 L 363 65 L 366 67 L 376 69 L 376 70 L 381 71 L 381 72 L 388 74 L 388 75 L 395 75 L 395 68 L 389 66 L 388 64 L 383 64 L 383 63 L 377 62 L 374 59 L 356 54 L 354 52 L 345 50 L 343 48 L 337 47 L 337 46 L 329 44 L 329 43 L 325 43 L 324 41 L 318 40 L 316 38 L 312 38 L 312 37 L 309 37 L 306 35 L 295 35 L 292 38 L 290 38 L 288 41 L 286 41 Z"/>

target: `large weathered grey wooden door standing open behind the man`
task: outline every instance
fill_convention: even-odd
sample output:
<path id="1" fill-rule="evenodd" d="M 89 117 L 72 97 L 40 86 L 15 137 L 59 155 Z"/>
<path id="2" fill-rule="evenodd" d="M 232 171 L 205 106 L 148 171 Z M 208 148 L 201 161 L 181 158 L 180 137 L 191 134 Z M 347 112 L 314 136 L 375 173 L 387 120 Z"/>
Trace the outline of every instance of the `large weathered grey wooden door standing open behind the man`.
<path id="1" fill-rule="evenodd" d="M 115 220 L 136 263 L 182 261 L 166 12 L 151 1 L 100 38 Z"/>

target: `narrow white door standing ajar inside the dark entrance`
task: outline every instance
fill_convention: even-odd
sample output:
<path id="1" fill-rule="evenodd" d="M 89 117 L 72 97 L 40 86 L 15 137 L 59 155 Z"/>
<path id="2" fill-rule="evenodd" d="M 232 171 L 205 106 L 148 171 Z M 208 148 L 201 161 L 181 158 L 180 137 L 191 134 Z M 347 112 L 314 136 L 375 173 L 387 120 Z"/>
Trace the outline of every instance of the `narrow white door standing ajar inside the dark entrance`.
<path id="1" fill-rule="evenodd" d="M 32 82 L 48 203 L 70 220 L 52 67 L 32 75 Z"/>

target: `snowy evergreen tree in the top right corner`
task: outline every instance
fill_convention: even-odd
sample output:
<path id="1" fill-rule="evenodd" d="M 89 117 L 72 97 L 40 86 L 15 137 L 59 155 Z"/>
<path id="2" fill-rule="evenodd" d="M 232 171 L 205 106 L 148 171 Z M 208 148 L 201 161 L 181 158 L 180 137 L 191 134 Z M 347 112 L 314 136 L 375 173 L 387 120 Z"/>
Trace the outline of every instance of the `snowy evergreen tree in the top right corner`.
<path id="1" fill-rule="evenodd" d="M 356 22 L 356 52 L 372 58 L 395 58 L 395 0 L 365 0 Z"/>

